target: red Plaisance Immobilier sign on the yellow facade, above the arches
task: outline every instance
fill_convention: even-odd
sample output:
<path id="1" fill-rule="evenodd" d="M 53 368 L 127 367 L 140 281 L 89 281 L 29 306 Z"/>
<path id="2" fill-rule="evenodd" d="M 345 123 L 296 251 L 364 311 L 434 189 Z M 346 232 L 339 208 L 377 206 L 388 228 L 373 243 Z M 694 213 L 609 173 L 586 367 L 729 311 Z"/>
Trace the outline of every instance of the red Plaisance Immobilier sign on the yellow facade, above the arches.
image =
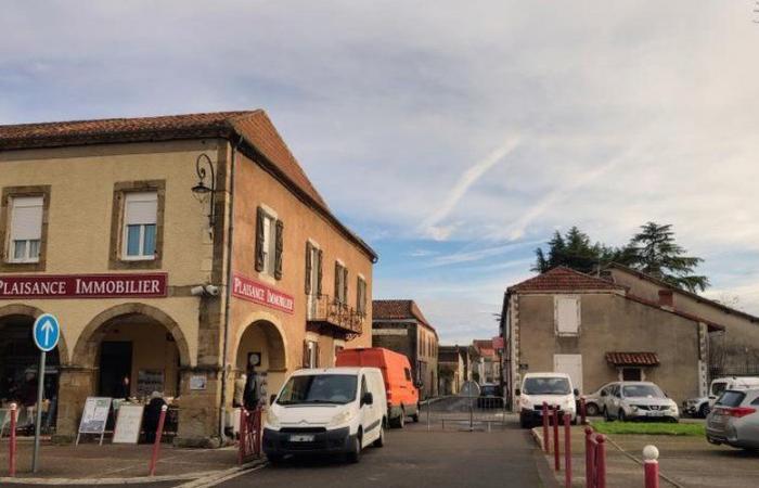
<path id="1" fill-rule="evenodd" d="M 0 275 L 0 299 L 16 298 L 160 298 L 168 274 Z"/>

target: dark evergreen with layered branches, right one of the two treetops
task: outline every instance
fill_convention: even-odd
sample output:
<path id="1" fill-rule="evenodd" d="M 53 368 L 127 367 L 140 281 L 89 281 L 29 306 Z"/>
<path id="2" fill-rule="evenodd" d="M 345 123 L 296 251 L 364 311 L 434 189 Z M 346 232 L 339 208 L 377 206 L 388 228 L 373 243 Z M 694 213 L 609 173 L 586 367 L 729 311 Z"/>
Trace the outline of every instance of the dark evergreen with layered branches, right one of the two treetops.
<path id="1" fill-rule="evenodd" d="M 699 257 L 684 256 L 685 249 L 674 242 L 672 224 L 647 222 L 641 226 L 625 249 L 633 269 L 658 278 L 672 286 L 696 293 L 709 286 L 709 279 L 694 274 L 696 267 L 704 261 Z"/>

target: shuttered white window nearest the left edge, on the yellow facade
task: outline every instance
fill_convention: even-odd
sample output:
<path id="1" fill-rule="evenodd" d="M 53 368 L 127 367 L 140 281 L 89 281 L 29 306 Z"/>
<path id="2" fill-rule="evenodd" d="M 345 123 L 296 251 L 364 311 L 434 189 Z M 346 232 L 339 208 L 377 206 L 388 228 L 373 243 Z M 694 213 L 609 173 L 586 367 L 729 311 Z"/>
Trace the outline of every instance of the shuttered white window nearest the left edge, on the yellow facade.
<path id="1" fill-rule="evenodd" d="M 42 241 L 42 196 L 11 197 L 9 262 L 38 262 Z"/>

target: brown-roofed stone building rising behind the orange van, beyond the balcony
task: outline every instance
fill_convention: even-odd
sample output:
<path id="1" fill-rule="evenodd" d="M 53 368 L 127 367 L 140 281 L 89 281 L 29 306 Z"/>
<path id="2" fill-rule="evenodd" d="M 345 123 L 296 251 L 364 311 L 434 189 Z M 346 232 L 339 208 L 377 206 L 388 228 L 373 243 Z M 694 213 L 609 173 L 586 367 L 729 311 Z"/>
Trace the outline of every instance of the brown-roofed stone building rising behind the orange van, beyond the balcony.
<path id="1" fill-rule="evenodd" d="M 409 358 L 423 398 L 438 394 L 438 336 L 413 300 L 372 303 L 372 346 Z"/>

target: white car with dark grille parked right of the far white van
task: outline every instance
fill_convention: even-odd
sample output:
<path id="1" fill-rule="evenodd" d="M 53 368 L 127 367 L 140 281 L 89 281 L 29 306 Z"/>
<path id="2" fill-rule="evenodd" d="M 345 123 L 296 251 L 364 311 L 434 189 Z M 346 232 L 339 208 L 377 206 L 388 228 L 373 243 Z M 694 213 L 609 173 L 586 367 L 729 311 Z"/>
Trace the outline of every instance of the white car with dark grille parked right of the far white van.
<path id="1" fill-rule="evenodd" d="M 678 403 L 649 382 L 617 382 L 601 391 L 603 414 L 612 420 L 667 420 L 678 422 Z"/>

